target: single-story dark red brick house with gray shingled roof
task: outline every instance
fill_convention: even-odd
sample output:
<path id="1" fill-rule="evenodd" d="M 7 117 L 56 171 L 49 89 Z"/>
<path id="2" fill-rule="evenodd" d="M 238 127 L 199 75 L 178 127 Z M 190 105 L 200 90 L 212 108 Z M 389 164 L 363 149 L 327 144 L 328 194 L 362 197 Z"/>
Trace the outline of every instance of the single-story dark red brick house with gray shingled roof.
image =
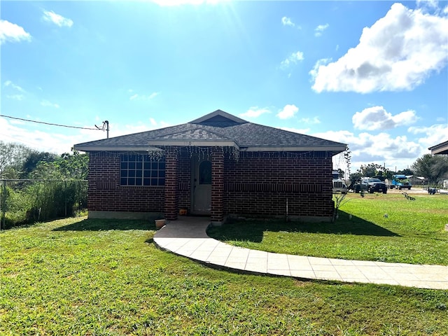
<path id="1" fill-rule="evenodd" d="M 90 218 L 179 211 L 330 221 L 332 156 L 346 145 L 221 110 L 190 123 L 76 144 L 89 153 Z"/>

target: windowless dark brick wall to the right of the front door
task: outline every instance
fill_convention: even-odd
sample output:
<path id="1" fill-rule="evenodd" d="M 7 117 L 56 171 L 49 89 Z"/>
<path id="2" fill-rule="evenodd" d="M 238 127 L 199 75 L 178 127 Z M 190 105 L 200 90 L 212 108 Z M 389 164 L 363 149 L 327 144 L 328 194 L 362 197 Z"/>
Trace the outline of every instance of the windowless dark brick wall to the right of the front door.
<path id="1" fill-rule="evenodd" d="M 331 155 L 241 153 L 224 170 L 226 214 L 332 216 Z"/>

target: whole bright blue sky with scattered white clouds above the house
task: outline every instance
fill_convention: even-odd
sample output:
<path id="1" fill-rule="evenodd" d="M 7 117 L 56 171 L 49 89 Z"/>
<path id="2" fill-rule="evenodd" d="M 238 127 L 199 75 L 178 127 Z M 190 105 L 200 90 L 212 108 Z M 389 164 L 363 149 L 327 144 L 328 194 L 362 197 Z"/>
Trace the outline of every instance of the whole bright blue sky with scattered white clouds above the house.
<path id="1" fill-rule="evenodd" d="M 106 137 L 5 116 L 109 120 L 115 137 L 221 109 L 346 143 L 353 172 L 407 168 L 448 140 L 447 1 L 0 6 L 2 141 L 64 153 Z"/>

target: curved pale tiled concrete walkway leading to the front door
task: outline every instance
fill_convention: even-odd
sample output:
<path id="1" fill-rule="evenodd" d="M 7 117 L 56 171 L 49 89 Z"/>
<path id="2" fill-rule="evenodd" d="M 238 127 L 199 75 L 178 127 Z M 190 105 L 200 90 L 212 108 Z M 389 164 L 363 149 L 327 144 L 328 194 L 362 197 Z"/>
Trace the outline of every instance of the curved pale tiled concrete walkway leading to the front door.
<path id="1" fill-rule="evenodd" d="M 299 279 L 380 283 L 448 290 L 448 266 L 316 258 L 230 246 L 207 236 L 209 218 L 181 217 L 158 230 L 163 250 L 223 269 Z"/>

